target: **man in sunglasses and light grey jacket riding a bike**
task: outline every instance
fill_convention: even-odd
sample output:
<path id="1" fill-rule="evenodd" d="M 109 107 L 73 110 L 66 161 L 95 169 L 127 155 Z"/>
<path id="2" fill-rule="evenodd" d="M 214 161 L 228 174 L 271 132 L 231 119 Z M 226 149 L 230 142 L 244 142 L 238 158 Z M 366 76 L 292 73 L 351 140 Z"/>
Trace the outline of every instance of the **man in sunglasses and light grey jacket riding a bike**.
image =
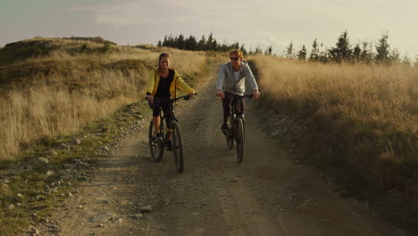
<path id="1" fill-rule="evenodd" d="M 221 130 L 228 131 L 228 116 L 230 115 L 230 102 L 232 97 L 225 96 L 225 93 L 242 96 L 246 91 L 246 82 L 253 91 L 253 97 L 258 99 L 258 85 L 255 81 L 253 72 L 246 61 L 243 61 L 243 54 L 240 50 L 234 49 L 230 51 L 230 62 L 223 63 L 216 81 L 216 96 L 222 97 L 223 107 L 223 123 Z M 240 98 L 239 105 L 242 114 L 244 114 L 244 98 Z"/>

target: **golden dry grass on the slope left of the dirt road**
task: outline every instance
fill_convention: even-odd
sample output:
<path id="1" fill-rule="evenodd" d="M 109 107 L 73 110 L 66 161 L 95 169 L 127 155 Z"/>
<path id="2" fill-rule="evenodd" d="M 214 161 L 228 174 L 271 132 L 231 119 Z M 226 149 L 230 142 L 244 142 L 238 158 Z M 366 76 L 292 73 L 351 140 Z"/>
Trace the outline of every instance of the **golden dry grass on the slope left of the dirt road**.
<path id="1" fill-rule="evenodd" d="M 0 159 L 13 160 L 22 145 L 78 132 L 88 122 L 143 99 L 148 71 L 162 51 L 182 73 L 201 72 L 205 54 L 168 48 L 110 46 L 108 53 L 75 48 L 103 45 L 70 39 L 33 38 L 48 54 L 0 66 Z M 91 53 L 93 52 L 93 53 Z"/>

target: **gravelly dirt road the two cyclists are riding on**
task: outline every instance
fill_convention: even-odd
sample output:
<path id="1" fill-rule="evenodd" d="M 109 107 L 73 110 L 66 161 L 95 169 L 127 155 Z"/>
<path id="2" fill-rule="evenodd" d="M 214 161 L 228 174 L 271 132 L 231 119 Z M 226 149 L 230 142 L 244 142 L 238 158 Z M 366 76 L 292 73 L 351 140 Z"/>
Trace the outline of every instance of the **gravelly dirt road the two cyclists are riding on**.
<path id="1" fill-rule="evenodd" d="M 214 79 L 176 108 L 186 147 L 184 173 L 172 153 L 149 158 L 147 122 L 44 224 L 42 235 L 404 235 L 378 222 L 363 203 L 339 198 L 312 168 L 259 128 L 247 102 L 242 164 L 222 132 Z M 149 121 L 148 118 L 146 118 Z M 151 212 L 147 206 L 151 206 Z M 142 212 L 141 212 L 142 210 Z"/>

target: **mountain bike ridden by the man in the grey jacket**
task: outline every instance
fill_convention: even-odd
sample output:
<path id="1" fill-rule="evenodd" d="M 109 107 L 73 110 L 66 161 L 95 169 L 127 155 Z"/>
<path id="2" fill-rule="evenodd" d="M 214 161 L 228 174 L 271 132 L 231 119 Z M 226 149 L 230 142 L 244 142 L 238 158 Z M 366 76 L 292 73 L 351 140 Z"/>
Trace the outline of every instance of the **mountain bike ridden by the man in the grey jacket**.
<path id="1" fill-rule="evenodd" d="M 253 95 L 239 96 L 225 92 L 225 97 L 232 97 L 230 102 L 230 117 L 228 119 L 228 131 L 225 131 L 226 143 L 231 150 L 234 147 L 234 141 L 237 146 L 238 163 L 242 163 L 244 157 L 244 140 L 245 140 L 245 120 L 241 111 L 241 98 L 251 99 Z"/>

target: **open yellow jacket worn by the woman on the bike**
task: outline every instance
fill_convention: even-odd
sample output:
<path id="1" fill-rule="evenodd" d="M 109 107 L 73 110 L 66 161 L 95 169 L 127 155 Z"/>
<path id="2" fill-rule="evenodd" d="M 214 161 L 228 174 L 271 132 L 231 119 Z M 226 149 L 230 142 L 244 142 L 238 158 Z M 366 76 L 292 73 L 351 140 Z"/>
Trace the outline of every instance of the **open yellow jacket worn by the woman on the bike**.
<path id="1" fill-rule="evenodd" d="M 173 70 L 173 69 L 169 68 L 169 70 Z M 171 85 L 170 85 L 170 94 L 172 98 L 177 97 L 177 89 L 180 89 L 186 92 L 187 94 L 195 92 L 195 90 L 188 87 L 188 84 L 186 84 L 186 82 L 183 79 L 181 79 L 179 72 L 177 72 L 176 70 L 173 70 L 173 71 L 174 71 L 174 79 L 171 81 Z M 149 79 L 146 82 L 146 94 L 151 94 L 152 96 L 155 96 L 157 89 L 158 89 L 159 82 L 160 82 L 160 75 L 158 74 L 156 70 L 152 70 L 150 72 Z"/>

